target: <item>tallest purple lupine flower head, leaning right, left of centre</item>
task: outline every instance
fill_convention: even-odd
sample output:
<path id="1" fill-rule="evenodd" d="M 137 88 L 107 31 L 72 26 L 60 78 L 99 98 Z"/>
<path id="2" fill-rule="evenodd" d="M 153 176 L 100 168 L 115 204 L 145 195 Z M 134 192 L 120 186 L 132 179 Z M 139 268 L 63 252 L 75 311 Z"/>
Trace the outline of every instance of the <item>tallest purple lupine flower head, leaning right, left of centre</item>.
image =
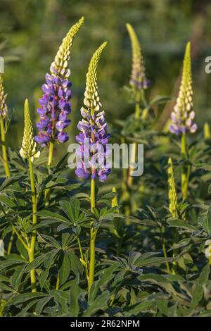
<path id="1" fill-rule="evenodd" d="M 83 23 L 84 18 L 81 18 L 70 28 L 51 63 L 51 74 L 46 74 L 46 83 L 42 86 L 44 94 L 39 99 L 40 108 L 37 109 L 39 135 L 35 137 L 41 146 L 46 146 L 50 141 L 67 142 L 69 139 L 68 133 L 64 132 L 70 125 L 68 115 L 71 112 L 70 70 L 67 67 L 73 39 Z"/>

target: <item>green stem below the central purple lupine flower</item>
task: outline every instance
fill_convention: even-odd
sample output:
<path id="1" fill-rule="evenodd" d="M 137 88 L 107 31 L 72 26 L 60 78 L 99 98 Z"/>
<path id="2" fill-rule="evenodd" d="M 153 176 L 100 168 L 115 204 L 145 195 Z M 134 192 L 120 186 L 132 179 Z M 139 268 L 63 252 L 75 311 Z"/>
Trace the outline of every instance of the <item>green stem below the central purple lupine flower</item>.
<path id="1" fill-rule="evenodd" d="M 95 207 L 95 181 L 91 179 L 91 212 Z M 96 230 L 94 229 L 93 221 L 91 221 L 90 228 L 90 263 L 89 263 L 89 284 L 88 292 L 90 292 L 91 285 L 94 282 L 94 267 L 95 267 L 95 239 Z"/>

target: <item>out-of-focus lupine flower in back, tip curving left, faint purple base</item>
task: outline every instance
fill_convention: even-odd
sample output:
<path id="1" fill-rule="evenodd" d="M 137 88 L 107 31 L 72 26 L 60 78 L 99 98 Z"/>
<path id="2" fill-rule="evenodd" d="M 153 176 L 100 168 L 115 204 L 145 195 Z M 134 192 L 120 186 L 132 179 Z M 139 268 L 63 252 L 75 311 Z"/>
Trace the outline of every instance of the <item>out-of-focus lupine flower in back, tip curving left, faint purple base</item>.
<path id="1" fill-rule="evenodd" d="M 136 91 L 141 91 L 141 89 L 148 88 L 149 80 L 146 79 L 145 75 L 145 67 L 143 64 L 143 56 L 141 54 L 139 39 L 137 38 L 136 32 L 134 32 L 132 25 L 127 23 L 126 26 L 132 42 L 132 73 L 129 84 L 134 87 Z"/>

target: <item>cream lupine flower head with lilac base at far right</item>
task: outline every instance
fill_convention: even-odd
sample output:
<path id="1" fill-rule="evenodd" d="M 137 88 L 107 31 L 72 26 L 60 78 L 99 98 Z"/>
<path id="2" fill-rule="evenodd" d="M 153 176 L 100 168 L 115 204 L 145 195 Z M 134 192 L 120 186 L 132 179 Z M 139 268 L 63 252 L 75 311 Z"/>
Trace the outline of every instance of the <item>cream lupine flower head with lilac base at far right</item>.
<path id="1" fill-rule="evenodd" d="M 186 46 L 179 96 L 177 97 L 171 118 L 172 124 L 170 125 L 170 132 L 175 135 L 185 134 L 186 132 L 196 132 L 197 125 L 193 122 L 195 112 L 193 111 L 190 42 L 188 42 Z"/>

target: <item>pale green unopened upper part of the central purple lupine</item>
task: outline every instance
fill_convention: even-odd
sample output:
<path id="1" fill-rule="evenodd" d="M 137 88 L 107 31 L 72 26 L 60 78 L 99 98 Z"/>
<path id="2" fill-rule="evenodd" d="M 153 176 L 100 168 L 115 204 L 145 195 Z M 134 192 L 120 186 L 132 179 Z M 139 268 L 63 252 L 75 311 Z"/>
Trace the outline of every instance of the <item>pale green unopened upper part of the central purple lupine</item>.
<path id="1" fill-rule="evenodd" d="M 100 99 L 98 97 L 98 85 L 97 85 L 97 65 L 103 49 L 106 47 L 107 42 L 103 44 L 95 51 L 91 58 L 89 69 L 87 73 L 86 90 L 84 93 L 84 105 L 91 109 L 91 113 L 99 111 L 101 108 Z M 84 108 L 83 111 L 87 112 Z"/>

